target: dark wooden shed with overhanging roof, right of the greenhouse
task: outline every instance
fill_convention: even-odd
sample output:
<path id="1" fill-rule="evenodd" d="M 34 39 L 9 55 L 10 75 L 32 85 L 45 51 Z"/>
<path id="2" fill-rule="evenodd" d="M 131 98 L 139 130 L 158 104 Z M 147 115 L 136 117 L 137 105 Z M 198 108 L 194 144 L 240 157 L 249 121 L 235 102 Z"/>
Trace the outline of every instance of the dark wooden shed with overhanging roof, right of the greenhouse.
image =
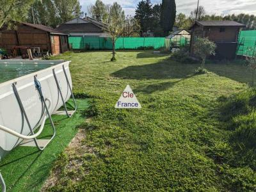
<path id="1" fill-rule="evenodd" d="M 196 38 L 207 37 L 217 46 L 215 58 L 227 60 L 236 58 L 239 31 L 245 27 L 244 24 L 231 20 L 196 21 L 191 27 L 191 56 L 194 56 Z"/>

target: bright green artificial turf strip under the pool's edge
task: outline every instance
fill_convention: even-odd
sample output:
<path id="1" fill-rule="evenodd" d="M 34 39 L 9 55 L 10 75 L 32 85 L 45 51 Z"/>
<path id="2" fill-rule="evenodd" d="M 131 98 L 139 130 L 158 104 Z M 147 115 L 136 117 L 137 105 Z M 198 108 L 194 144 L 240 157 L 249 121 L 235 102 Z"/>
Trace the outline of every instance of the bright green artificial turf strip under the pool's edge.
<path id="1" fill-rule="evenodd" d="M 43 152 L 39 152 L 36 147 L 19 146 L 4 157 L 0 171 L 6 182 L 7 191 L 40 191 L 49 176 L 52 163 L 76 135 L 77 125 L 84 122 L 83 111 L 89 106 L 88 100 L 77 99 L 77 106 L 77 113 L 71 118 L 65 115 L 52 116 L 56 126 L 56 137 Z M 47 138 L 51 134 L 51 125 L 47 120 L 40 138 Z"/>

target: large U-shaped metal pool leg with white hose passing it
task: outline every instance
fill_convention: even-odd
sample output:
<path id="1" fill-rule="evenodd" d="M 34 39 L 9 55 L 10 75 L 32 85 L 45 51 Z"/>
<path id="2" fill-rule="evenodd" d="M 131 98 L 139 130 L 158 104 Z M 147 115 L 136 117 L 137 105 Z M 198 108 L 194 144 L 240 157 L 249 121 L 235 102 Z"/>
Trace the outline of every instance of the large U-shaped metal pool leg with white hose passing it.
<path id="1" fill-rule="evenodd" d="M 37 81 L 36 76 L 35 76 L 34 78 L 35 78 L 35 86 L 36 86 L 36 89 L 38 90 L 38 93 L 39 93 L 39 95 L 40 95 L 40 100 L 42 101 L 42 104 L 43 104 L 43 108 L 44 108 L 43 111 L 44 111 L 44 110 L 46 111 L 47 116 L 49 117 L 49 120 L 50 120 L 50 122 L 51 122 L 51 127 L 52 127 L 52 131 L 53 131 L 53 134 L 52 134 L 51 139 L 48 140 L 47 143 L 45 143 L 45 145 L 44 145 L 43 147 L 40 146 L 40 145 L 38 145 L 38 140 L 36 140 L 36 138 L 33 139 L 33 141 L 35 142 L 36 147 L 37 147 L 39 150 L 44 150 L 45 147 L 46 147 L 46 146 L 51 142 L 51 140 L 55 137 L 55 135 L 56 135 L 56 129 L 55 129 L 54 124 L 53 124 L 53 122 L 52 122 L 52 118 L 51 118 L 51 114 L 49 113 L 49 109 L 47 108 L 47 105 L 46 105 L 46 103 L 45 103 L 45 99 L 44 99 L 44 95 L 42 94 L 42 89 L 41 89 L 40 83 L 39 83 L 39 81 Z M 12 87 L 13 87 L 13 92 L 14 92 L 14 94 L 15 94 L 15 97 L 16 97 L 18 103 L 19 103 L 20 110 L 22 111 L 22 115 L 23 115 L 23 116 L 25 117 L 25 119 L 26 119 L 26 122 L 27 122 L 28 127 L 29 127 L 30 132 L 31 132 L 31 135 L 33 135 L 33 134 L 35 134 L 35 132 L 33 131 L 33 128 L 31 127 L 31 125 L 30 125 L 30 123 L 29 123 L 28 116 L 27 116 L 26 111 L 25 111 L 25 109 L 24 109 L 24 106 L 23 106 L 23 104 L 22 104 L 22 102 L 21 102 L 21 100 L 20 100 L 19 92 L 18 92 L 18 90 L 17 90 L 17 88 L 16 88 L 15 83 L 12 84 Z M 44 114 L 44 113 L 43 113 L 43 114 Z M 43 115 L 43 114 L 42 114 L 42 115 Z M 41 116 L 40 121 L 41 121 L 41 120 L 42 120 L 42 116 Z M 39 122 L 40 122 L 40 121 L 39 121 Z M 36 125 L 36 126 L 37 126 L 37 125 Z M 35 128 L 35 127 L 34 127 L 34 128 Z"/>

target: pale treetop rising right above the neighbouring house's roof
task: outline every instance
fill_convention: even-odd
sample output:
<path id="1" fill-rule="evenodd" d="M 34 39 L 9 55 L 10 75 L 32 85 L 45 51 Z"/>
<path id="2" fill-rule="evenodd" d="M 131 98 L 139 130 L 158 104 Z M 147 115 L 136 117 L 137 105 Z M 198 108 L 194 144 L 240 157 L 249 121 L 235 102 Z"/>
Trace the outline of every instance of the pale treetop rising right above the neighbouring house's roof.
<path id="1" fill-rule="evenodd" d="M 104 4 L 102 1 L 97 0 L 95 4 L 88 7 L 88 12 L 93 19 L 108 22 L 109 8 L 109 4 Z"/>

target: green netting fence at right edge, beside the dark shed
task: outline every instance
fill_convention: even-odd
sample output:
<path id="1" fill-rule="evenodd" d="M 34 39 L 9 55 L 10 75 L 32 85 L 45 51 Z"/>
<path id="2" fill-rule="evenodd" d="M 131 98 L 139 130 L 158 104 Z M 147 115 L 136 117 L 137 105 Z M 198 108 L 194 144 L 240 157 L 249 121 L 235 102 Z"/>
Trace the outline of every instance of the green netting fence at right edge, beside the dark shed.
<path id="1" fill-rule="evenodd" d="M 241 31 L 239 33 L 237 55 L 242 55 L 242 56 L 256 55 L 256 30 Z"/>

